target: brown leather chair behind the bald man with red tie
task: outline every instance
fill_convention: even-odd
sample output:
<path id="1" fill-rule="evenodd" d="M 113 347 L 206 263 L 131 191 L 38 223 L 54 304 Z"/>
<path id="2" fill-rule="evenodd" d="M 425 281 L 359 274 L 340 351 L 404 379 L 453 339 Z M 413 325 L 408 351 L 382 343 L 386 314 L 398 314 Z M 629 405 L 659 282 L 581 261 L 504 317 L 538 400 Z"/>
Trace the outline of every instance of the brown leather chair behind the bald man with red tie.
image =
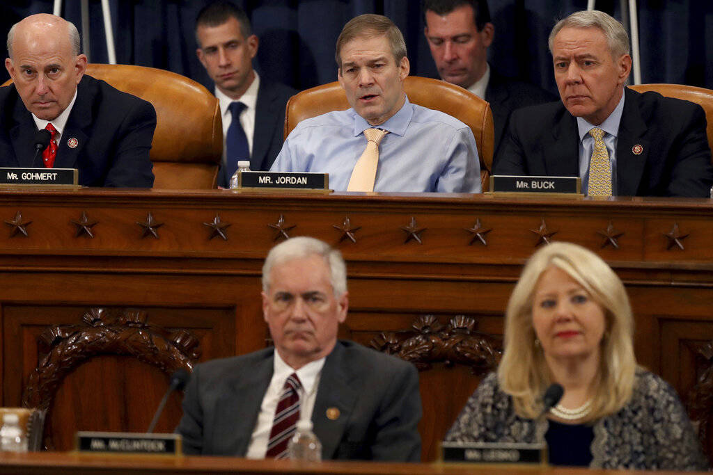
<path id="1" fill-rule="evenodd" d="M 194 80 L 162 69 L 88 64 L 86 73 L 148 100 L 156 109 L 150 152 L 154 188 L 215 188 L 222 157 L 222 120 L 215 96 Z"/>

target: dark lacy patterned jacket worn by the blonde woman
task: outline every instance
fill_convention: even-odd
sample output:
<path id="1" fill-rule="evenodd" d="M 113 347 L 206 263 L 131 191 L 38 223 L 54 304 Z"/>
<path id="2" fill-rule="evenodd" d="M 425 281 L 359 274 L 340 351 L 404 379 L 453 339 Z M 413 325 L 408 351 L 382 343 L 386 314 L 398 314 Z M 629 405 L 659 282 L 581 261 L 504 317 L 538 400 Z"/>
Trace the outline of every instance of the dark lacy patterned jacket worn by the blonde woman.
<path id="1" fill-rule="evenodd" d="M 449 442 L 528 442 L 544 440 L 548 420 L 515 414 L 510 396 L 495 373 L 468 400 Z M 637 370 L 632 399 L 619 412 L 594 423 L 591 468 L 707 470 L 708 464 L 676 392 L 657 375 Z"/>

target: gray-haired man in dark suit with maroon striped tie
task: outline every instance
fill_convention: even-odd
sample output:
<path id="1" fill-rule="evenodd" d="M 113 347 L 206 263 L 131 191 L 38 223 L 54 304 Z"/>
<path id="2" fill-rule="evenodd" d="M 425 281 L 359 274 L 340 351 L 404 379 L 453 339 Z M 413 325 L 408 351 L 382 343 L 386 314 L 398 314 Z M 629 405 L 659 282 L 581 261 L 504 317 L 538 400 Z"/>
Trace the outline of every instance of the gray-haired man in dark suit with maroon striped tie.
<path id="1" fill-rule="evenodd" d="M 322 459 L 419 461 L 416 368 L 337 340 L 347 318 L 339 251 L 308 237 L 275 246 L 262 268 L 262 310 L 275 348 L 197 365 L 178 432 L 186 454 L 284 458 L 311 420 Z"/>

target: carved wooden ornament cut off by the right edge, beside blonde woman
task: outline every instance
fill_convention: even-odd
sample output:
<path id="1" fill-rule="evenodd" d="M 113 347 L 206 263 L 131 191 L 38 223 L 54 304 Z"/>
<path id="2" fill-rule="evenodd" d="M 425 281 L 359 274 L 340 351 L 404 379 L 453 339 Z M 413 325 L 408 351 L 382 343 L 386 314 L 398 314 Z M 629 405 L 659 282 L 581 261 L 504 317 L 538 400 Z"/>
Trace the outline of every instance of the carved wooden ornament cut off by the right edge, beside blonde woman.
<path id="1" fill-rule="evenodd" d="M 706 343 L 686 342 L 696 356 L 696 374 L 698 381 L 686 397 L 686 407 L 691 421 L 697 426 L 698 439 L 703 449 L 707 451 L 708 460 L 713 460 L 713 454 L 707 450 L 707 442 L 712 434 L 708 433 L 713 416 L 713 341 Z"/>

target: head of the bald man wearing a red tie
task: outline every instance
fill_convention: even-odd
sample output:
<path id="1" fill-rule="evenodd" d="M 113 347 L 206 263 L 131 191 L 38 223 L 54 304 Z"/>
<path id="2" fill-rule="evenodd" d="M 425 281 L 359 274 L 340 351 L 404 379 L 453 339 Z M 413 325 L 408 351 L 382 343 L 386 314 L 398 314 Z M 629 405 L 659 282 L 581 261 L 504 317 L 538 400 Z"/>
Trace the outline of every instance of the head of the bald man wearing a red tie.
<path id="1" fill-rule="evenodd" d="M 5 68 L 25 108 L 39 119 L 56 119 L 86 71 L 77 28 L 54 15 L 28 16 L 11 28 L 7 46 Z"/>

